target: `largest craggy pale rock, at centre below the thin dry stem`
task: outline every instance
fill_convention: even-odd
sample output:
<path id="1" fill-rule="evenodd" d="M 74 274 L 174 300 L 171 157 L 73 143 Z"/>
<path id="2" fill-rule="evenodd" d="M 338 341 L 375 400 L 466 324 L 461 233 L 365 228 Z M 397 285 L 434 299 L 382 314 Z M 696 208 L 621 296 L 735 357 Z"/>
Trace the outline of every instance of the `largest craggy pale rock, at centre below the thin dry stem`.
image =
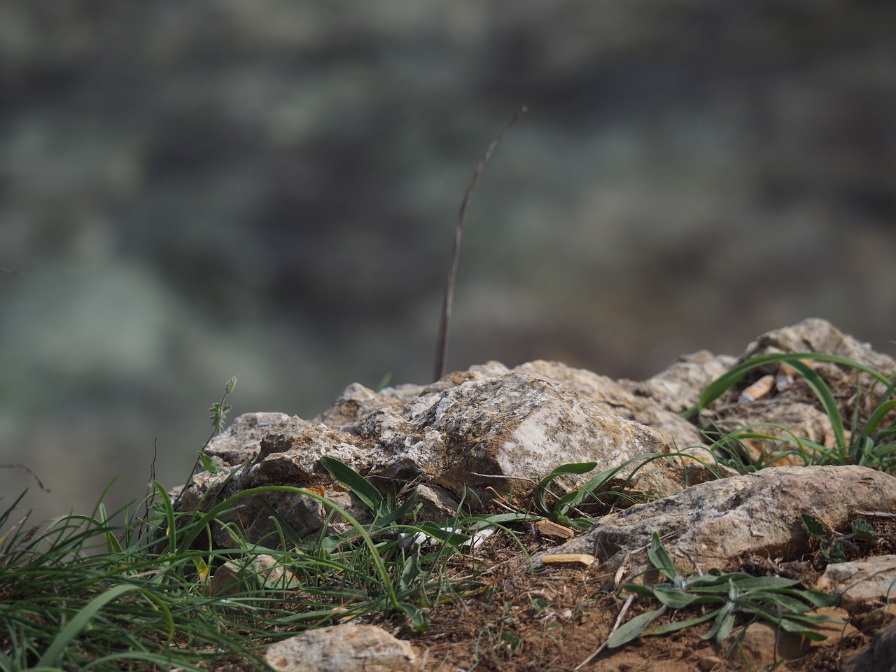
<path id="1" fill-rule="evenodd" d="M 353 495 L 333 490 L 332 478 L 320 461 L 323 455 L 345 462 L 377 485 L 392 483 L 400 489 L 416 482 L 438 488 L 434 490 L 438 497 L 453 502 L 488 501 L 492 490 L 508 497 L 513 493 L 514 501 L 524 502 L 538 478 L 569 462 L 595 461 L 597 473 L 633 461 L 604 489 L 625 485 L 635 495 L 668 495 L 684 483 L 709 478 L 710 472 L 694 460 L 686 469 L 680 460 L 637 461 L 646 453 L 668 453 L 671 446 L 663 433 L 614 410 L 623 408 L 641 413 L 642 418 L 648 414 L 663 418 L 682 435 L 693 434 L 682 418 L 653 401 L 638 400 L 612 381 L 545 362 L 514 371 L 489 363 L 426 387 L 387 388 L 379 393 L 355 384 L 311 422 L 285 418 L 268 426 L 256 453 L 218 448 L 225 442 L 239 443 L 233 437 L 246 437 L 244 443 L 249 437 L 255 440 L 255 434 L 240 429 L 252 426 L 254 418 L 237 418 L 235 428 L 211 445 L 228 459 L 255 454 L 254 459 L 225 465 L 218 474 L 197 475 L 181 504 L 190 508 L 202 502 L 208 507 L 260 486 L 315 487 L 340 498 L 338 503 L 349 513 L 366 520 L 368 513 Z M 592 476 L 562 476 L 552 487 L 563 494 Z M 215 495 L 203 501 L 210 491 Z M 296 492 L 253 495 L 242 504 L 222 520 L 238 522 L 251 541 L 274 530 L 271 509 L 300 537 L 320 530 L 326 519 L 323 504 Z M 228 545 L 224 530 L 214 535 L 217 544 Z"/>

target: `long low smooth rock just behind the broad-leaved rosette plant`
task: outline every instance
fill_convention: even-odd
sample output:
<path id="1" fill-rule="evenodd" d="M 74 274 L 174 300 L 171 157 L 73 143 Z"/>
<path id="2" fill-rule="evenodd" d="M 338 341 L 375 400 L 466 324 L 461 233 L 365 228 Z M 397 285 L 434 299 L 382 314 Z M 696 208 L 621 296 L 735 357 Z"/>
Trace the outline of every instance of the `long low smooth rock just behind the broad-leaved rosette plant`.
<path id="1" fill-rule="evenodd" d="M 611 513 L 548 553 L 592 553 L 614 569 L 628 558 L 628 573 L 638 573 L 657 531 L 678 566 L 691 568 L 693 559 L 704 570 L 725 568 L 745 554 L 789 559 L 808 551 L 801 513 L 845 530 L 863 511 L 896 513 L 896 477 L 856 466 L 779 467 Z"/>

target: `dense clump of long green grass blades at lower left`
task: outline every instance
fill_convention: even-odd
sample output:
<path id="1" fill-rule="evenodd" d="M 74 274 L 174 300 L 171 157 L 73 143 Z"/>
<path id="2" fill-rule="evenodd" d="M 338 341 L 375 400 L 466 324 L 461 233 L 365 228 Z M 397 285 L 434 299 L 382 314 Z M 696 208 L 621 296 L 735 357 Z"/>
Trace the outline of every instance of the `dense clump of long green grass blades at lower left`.
<path id="1" fill-rule="evenodd" d="M 334 462 L 328 467 L 373 506 L 372 522 L 289 487 L 254 488 L 208 512 L 179 513 L 154 484 L 158 500 L 143 519 L 124 512 L 116 526 L 98 504 L 90 515 L 30 530 L 27 518 L 13 525 L 0 546 L 0 670 L 263 669 L 261 651 L 277 639 L 367 615 L 401 616 L 425 630 L 428 609 L 482 589 L 475 571 L 453 578 L 450 564 L 472 535 L 452 530 L 490 521 L 404 523 L 413 502 L 393 506 Z M 319 499 L 348 531 L 302 543 L 278 524 L 249 544 L 231 529 L 234 547 L 211 547 L 211 525 L 240 499 L 283 490 Z M 426 547 L 407 542 L 417 534 Z M 212 577 L 225 564 L 229 584 L 215 590 Z"/>

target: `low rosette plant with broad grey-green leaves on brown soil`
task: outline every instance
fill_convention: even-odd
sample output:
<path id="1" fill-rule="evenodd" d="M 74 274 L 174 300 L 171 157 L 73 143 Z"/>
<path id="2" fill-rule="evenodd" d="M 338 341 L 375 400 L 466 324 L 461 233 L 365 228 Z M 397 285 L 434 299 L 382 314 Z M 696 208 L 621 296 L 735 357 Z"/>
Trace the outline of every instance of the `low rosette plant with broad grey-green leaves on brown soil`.
<path id="1" fill-rule="evenodd" d="M 747 621 L 762 619 L 788 633 L 798 633 L 811 640 L 825 639 L 825 635 L 812 629 L 835 621 L 830 616 L 810 615 L 814 607 L 830 607 L 840 603 L 840 597 L 817 590 L 798 589 L 798 581 L 780 576 L 751 576 L 731 572 L 686 576 L 679 573 L 675 563 L 653 533 L 647 552 L 650 563 L 669 581 L 653 585 L 625 583 L 623 588 L 633 595 L 647 596 L 659 602 L 659 607 L 634 616 L 617 628 L 607 639 L 608 648 L 616 648 L 638 637 L 653 634 L 674 633 L 694 625 L 710 623 L 710 629 L 701 636 L 703 640 L 715 640 L 721 644 L 728 639 L 737 624 L 737 617 Z M 669 609 L 702 607 L 702 616 L 652 625 Z"/>

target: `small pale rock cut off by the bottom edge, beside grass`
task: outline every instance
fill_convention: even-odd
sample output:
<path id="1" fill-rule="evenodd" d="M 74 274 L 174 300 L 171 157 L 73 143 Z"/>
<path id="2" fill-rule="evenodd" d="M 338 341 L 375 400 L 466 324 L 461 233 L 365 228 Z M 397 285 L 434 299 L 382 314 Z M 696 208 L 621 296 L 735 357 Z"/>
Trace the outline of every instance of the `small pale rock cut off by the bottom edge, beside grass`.
<path id="1" fill-rule="evenodd" d="M 417 655 L 376 625 L 331 625 L 271 644 L 264 660 L 277 672 L 366 672 L 416 669 Z"/>

